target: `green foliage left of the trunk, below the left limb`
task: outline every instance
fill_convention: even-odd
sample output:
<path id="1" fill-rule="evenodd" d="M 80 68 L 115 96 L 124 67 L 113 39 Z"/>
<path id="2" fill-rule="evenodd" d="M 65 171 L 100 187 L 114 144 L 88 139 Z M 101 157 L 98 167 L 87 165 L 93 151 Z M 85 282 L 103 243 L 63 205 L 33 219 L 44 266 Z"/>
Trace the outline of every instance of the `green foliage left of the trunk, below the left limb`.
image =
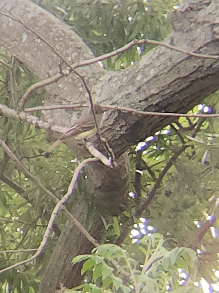
<path id="1" fill-rule="evenodd" d="M 11 55 L 4 48 L 0 48 L 0 57 L 5 62 L 11 62 Z M 11 84 L 16 85 L 17 100 L 19 102 L 26 89 L 36 82 L 35 77 L 15 61 L 14 79 L 5 67 L 0 67 L 0 103 L 13 108 Z M 31 95 L 27 106 L 40 105 L 41 94 L 44 90 L 37 91 Z M 39 98 L 40 96 L 40 98 Z M 17 105 L 14 105 L 17 106 Z M 40 117 L 38 113 L 38 117 Z M 72 170 L 75 166 L 71 163 L 72 154 L 65 146 L 57 148 L 57 157 L 36 157 L 39 149 L 46 150 L 48 143 L 44 130 L 36 129 L 23 121 L 1 117 L 0 136 L 8 147 L 17 156 L 25 168 L 32 173 L 36 179 L 57 197 L 67 191 Z M 54 202 L 43 192 L 37 184 L 22 173 L 19 167 L 0 148 L 0 251 L 37 248 L 40 245 L 45 232 Z M 60 213 L 56 219 L 59 229 L 66 221 Z M 53 231 L 48 240 L 48 248 L 55 245 L 57 231 Z M 51 251 L 51 250 L 50 250 Z M 17 261 L 29 258 L 34 252 L 6 252 L 0 254 L 1 268 L 10 266 Z M 38 258 L 36 266 L 24 265 L 19 271 L 12 270 L 0 275 L 1 292 L 6 292 L 7 286 L 10 292 L 37 292 L 42 261 L 46 260 L 49 251 L 44 258 Z M 5 285 L 4 285 L 5 284 Z"/>

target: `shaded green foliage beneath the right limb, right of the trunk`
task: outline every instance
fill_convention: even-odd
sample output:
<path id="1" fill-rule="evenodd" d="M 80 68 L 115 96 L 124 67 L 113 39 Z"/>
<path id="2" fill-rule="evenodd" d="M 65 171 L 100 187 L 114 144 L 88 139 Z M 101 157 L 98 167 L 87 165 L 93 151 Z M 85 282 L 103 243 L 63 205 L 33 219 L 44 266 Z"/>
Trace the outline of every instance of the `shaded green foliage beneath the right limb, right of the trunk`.
<path id="1" fill-rule="evenodd" d="M 218 92 L 214 94 L 211 103 L 218 104 Z M 197 107 L 190 113 L 196 112 Z M 188 146 L 166 172 L 161 187 L 145 211 L 147 226 L 156 227 L 157 231 L 164 235 L 164 246 L 168 250 L 174 249 L 175 246 L 187 246 L 195 251 L 202 251 L 194 280 L 203 277 L 214 283 L 217 281 L 213 270 L 218 268 L 218 249 L 215 249 L 218 239 L 213 238 L 210 229 L 202 231 L 207 225 L 209 228 L 219 228 L 219 121 L 218 118 L 203 121 L 181 117 L 173 126 L 174 128 L 165 127 L 157 134 L 158 137 L 155 136 L 151 143 L 148 142 L 149 146 L 142 152 L 142 197 L 147 199 L 156 181 L 152 175 L 159 177 L 171 161 L 173 152 L 182 146 L 182 140 L 183 144 Z M 131 162 L 134 167 L 135 155 L 132 155 Z M 134 188 L 132 191 L 135 192 Z M 212 225 L 210 218 L 216 219 Z M 199 229 L 196 222 L 199 222 Z M 140 228 L 138 231 L 141 233 Z M 127 242 L 127 245 L 130 244 Z M 186 262 L 180 259 L 179 267 L 187 269 Z"/>

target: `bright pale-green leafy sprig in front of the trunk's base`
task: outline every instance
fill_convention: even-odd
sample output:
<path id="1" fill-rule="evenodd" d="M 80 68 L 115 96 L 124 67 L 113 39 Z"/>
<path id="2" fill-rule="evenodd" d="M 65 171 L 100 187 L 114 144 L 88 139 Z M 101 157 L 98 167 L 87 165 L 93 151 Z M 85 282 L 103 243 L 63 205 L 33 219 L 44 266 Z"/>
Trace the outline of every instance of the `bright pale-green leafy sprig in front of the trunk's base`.
<path id="1" fill-rule="evenodd" d="M 78 255 L 72 263 L 86 260 L 81 274 L 89 270 L 92 277 L 80 288 L 67 292 L 166 292 L 167 284 L 172 292 L 181 292 L 178 268 L 191 272 L 197 263 L 197 256 L 190 248 L 176 247 L 167 251 L 163 243 L 162 235 L 153 234 L 134 244 L 134 255 L 114 244 L 94 248 L 91 255 Z M 199 292 L 194 285 L 189 286 L 193 292 Z"/>

